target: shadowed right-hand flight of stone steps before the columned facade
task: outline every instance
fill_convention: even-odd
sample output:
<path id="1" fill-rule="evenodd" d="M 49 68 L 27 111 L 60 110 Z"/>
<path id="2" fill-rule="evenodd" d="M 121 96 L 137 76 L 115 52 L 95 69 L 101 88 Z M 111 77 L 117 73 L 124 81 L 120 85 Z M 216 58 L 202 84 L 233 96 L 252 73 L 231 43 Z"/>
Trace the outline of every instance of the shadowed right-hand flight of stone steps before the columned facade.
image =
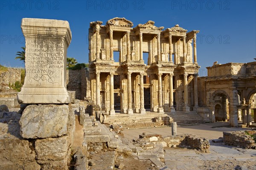
<path id="1" fill-rule="evenodd" d="M 166 112 L 171 122 L 177 122 L 178 126 L 188 124 L 203 124 L 204 119 L 197 112 Z"/>

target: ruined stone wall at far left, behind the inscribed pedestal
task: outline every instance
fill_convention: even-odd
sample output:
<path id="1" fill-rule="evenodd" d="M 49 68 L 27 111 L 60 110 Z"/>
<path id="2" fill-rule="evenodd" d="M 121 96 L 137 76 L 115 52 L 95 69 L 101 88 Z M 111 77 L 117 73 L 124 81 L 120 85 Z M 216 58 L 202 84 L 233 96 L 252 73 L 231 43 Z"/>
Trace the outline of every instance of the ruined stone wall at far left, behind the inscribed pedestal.
<path id="1" fill-rule="evenodd" d="M 0 75 L 0 92 L 9 92 L 9 84 L 15 84 L 20 81 L 21 69 L 8 68 L 8 71 L 1 72 Z"/>

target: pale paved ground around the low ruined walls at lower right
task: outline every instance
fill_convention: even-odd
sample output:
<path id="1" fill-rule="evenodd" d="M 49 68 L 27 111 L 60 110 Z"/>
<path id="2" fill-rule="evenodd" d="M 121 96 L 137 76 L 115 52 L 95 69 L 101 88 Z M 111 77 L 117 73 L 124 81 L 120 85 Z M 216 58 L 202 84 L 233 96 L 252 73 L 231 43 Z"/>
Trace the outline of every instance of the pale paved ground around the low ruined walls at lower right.
<path id="1" fill-rule="evenodd" d="M 222 132 L 250 130 L 250 128 L 220 127 L 228 122 L 207 123 L 177 127 L 177 134 L 193 134 L 207 139 L 223 137 Z M 214 128 L 213 128 L 214 127 Z M 132 141 L 143 132 L 171 135 L 171 127 L 124 130 L 124 136 Z M 171 170 L 256 170 L 256 150 L 230 147 L 210 140 L 210 153 L 196 153 L 194 150 L 165 148 L 165 164 Z"/>

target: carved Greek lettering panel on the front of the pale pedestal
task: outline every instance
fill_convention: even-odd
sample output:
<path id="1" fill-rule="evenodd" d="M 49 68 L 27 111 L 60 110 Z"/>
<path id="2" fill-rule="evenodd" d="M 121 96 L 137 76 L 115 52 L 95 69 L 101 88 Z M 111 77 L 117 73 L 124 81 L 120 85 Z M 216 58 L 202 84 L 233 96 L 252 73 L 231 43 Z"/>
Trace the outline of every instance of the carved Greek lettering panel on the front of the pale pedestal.
<path id="1" fill-rule="evenodd" d="M 26 39 L 26 73 L 29 82 L 58 84 L 64 68 L 63 40 L 47 37 Z"/>

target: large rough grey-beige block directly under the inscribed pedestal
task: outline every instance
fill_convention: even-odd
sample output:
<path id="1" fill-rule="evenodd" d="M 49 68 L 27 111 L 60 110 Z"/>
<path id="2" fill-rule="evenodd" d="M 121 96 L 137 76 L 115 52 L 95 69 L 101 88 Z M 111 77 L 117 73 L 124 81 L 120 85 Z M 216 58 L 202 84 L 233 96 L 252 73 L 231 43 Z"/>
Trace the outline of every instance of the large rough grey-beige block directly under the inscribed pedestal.
<path id="1" fill-rule="evenodd" d="M 29 105 L 20 118 L 23 138 L 58 137 L 67 133 L 67 105 Z"/>

